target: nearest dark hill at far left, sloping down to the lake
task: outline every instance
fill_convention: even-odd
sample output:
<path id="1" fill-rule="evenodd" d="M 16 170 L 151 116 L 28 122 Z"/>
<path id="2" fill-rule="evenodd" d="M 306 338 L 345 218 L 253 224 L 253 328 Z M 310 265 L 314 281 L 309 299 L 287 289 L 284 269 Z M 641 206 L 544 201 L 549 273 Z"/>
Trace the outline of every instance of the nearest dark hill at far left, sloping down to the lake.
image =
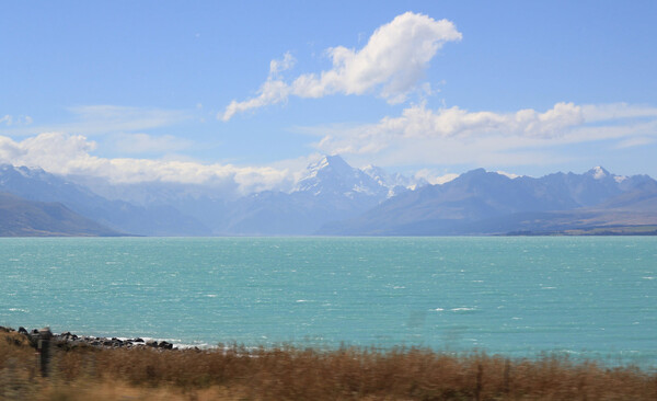
<path id="1" fill-rule="evenodd" d="M 59 203 L 32 202 L 0 192 L 1 237 L 114 237 L 122 233 Z"/>

